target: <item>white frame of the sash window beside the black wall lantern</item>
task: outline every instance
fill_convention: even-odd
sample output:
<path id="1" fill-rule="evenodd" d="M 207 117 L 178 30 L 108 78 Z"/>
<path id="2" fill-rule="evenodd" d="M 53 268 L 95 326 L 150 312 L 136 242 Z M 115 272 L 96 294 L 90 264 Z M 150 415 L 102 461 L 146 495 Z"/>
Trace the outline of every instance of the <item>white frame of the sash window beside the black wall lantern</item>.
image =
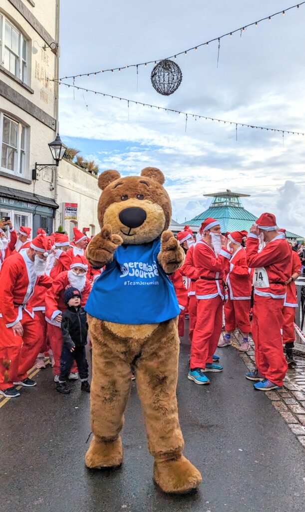
<path id="1" fill-rule="evenodd" d="M 4 129 L 4 118 L 10 120 L 10 122 L 14 122 L 17 124 L 17 147 L 15 148 L 15 152 L 17 154 L 17 158 L 14 161 L 14 169 L 8 169 L 7 167 L 2 166 L 2 151 L 3 144 L 9 147 L 13 147 L 11 144 L 3 141 L 3 129 Z M 21 147 L 21 136 L 22 131 L 24 131 L 24 147 Z M 27 160 L 27 135 L 28 135 L 28 127 L 25 124 L 22 124 L 17 119 L 14 119 L 13 116 L 6 114 L 5 112 L 0 111 L 0 170 L 5 173 L 11 174 L 12 176 L 18 176 L 23 178 L 25 176 L 26 171 L 26 160 Z M 21 157 L 22 154 L 22 157 Z M 20 172 L 21 170 L 21 172 Z"/>

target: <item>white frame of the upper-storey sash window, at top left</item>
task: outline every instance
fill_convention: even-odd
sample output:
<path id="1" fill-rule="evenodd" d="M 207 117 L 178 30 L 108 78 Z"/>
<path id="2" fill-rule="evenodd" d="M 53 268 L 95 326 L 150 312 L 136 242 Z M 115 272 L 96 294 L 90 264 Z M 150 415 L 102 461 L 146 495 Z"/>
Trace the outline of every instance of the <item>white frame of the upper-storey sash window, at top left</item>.
<path id="1" fill-rule="evenodd" d="M 11 46 L 8 45 L 8 41 L 6 41 L 5 37 L 5 31 L 6 31 L 6 23 L 10 25 L 13 30 L 15 30 L 19 34 L 19 44 L 18 44 L 18 52 L 17 54 Z M 26 42 L 26 59 L 23 57 L 23 44 L 24 41 Z M 5 52 L 7 51 L 10 54 L 13 54 L 17 58 L 17 70 L 15 69 L 15 73 L 12 73 L 10 67 L 8 68 L 5 66 Z M 12 75 L 14 75 L 15 78 L 18 78 L 22 83 L 25 83 L 28 85 L 28 68 L 29 68 L 29 39 L 26 37 L 26 35 L 18 29 L 3 12 L 0 12 L 0 63 L 1 65 Z M 25 72 L 24 72 L 25 70 Z M 17 73 L 16 73 L 17 71 Z M 24 76 L 22 76 L 24 74 Z"/>

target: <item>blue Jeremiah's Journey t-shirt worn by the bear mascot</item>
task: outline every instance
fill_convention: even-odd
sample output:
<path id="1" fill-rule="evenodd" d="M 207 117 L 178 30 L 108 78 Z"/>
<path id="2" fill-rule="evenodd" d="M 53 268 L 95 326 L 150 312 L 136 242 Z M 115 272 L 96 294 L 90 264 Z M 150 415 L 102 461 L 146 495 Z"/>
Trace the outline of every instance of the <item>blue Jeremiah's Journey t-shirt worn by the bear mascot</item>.
<path id="1" fill-rule="evenodd" d="M 160 240 L 121 245 L 98 278 L 85 310 L 115 324 L 158 324 L 180 312 L 174 287 L 158 264 Z"/>

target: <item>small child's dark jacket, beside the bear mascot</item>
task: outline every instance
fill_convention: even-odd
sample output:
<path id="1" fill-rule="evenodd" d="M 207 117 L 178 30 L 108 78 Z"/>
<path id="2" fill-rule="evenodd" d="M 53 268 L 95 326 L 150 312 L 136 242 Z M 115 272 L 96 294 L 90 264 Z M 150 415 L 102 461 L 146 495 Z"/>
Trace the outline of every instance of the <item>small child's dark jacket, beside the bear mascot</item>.
<path id="1" fill-rule="evenodd" d="M 87 344 L 88 325 L 84 308 L 67 307 L 62 315 L 61 332 L 68 349 Z"/>

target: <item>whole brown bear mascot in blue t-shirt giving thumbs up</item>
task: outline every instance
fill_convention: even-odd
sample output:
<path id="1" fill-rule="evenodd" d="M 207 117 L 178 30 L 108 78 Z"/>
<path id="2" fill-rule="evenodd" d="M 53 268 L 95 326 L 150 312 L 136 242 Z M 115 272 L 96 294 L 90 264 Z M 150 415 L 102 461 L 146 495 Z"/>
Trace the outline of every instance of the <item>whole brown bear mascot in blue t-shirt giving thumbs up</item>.
<path id="1" fill-rule="evenodd" d="M 122 178 L 99 176 L 101 227 L 86 249 L 93 268 L 105 267 L 87 304 L 92 343 L 89 468 L 119 466 L 120 432 L 131 387 L 131 367 L 142 403 L 153 478 L 167 493 L 187 493 L 202 478 L 182 455 L 178 419 L 179 306 L 167 274 L 181 267 L 183 249 L 168 230 L 171 201 L 154 167 Z"/>

